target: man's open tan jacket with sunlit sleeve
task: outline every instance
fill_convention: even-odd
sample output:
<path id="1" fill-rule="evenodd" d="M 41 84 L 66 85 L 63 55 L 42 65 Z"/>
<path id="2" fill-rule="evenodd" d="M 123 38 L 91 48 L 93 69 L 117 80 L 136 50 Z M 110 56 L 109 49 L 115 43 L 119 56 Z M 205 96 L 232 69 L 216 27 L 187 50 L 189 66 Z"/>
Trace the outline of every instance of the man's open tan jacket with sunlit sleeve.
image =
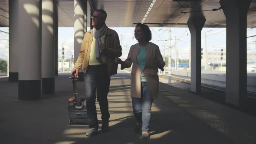
<path id="1" fill-rule="evenodd" d="M 79 52 L 79 56 L 77 61 L 75 62 L 74 68 L 81 69 L 83 72 L 86 72 L 87 67 L 89 65 L 89 57 L 91 51 L 93 39 L 92 29 L 85 33 L 84 40 L 81 45 L 81 49 Z M 118 65 L 115 64 L 115 57 L 120 57 L 122 55 L 122 49 L 120 46 L 118 34 L 113 29 L 107 28 L 105 30 L 105 49 L 103 53 L 107 56 L 107 69 L 108 75 L 115 75 L 117 73 Z"/>

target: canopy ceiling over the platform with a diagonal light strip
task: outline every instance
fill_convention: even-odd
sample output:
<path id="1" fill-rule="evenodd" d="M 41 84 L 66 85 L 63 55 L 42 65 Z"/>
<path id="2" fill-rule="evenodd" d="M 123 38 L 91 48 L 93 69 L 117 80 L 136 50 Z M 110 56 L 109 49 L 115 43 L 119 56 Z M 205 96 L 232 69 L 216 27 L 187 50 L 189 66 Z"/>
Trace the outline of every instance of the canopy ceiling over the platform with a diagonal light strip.
<path id="1" fill-rule="evenodd" d="M 225 27 L 226 19 L 223 10 L 212 11 L 220 7 L 220 0 L 156 0 L 144 23 L 151 27 L 187 27 L 186 23 L 191 13 L 202 10 L 206 18 L 204 27 Z M 91 8 L 104 9 L 108 13 L 108 27 L 133 27 L 133 23 L 141 22 L 152 0 L 88 0 L 87 13 Z M 204 11 L 210 10 L 210 11 Z M 9 26 L 8 0 L 0 0 L 0 27 Z M 73 27 L 74 0 L 59 0 L 59 27 Z M 194 13 L 195 14 L 195 13 Z M 89 26 L 90 21 L 88 20 Z M 166 23 L 166 24 L 160 24 Z M 171 24 L 172 23 L 172 24 Z M 256 26 L 256 1 L 252 0 L 247 15 L 247 27 Z"/>

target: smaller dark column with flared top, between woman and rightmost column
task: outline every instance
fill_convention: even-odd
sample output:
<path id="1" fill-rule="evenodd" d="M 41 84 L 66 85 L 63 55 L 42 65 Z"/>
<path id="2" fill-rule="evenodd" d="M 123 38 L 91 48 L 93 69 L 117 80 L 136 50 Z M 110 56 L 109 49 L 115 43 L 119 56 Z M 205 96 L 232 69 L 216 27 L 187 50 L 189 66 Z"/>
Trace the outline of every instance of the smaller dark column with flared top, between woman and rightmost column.
<path id="1" fill-rule="evenodd" d="M 190 91 L 201 93 L 201 30 L 205 23 L 203 15 L 191 15 L 187 25 L 191 34 L 191 85 Z"/>

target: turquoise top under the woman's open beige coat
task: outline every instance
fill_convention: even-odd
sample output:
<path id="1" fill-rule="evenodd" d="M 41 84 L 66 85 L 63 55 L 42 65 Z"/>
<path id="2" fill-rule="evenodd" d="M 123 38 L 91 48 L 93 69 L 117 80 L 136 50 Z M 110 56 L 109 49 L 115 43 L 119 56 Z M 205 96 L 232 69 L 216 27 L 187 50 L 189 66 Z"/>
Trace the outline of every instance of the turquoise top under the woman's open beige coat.
<path id="1" fill-rule="evenodd" d="M 140 46 L 138 43 L 138 47 L 140 49 L 140 52 L 138 56 L 136 57 L 137 62 L 141 68 L 141 82 L 147 82 L 146 77 L 144 75 L 144 68 L 145 68 L 145 63 L 146 63 L 146 49 L 150 46 L 150 43 L 147 44 L 147 46 Z"/>

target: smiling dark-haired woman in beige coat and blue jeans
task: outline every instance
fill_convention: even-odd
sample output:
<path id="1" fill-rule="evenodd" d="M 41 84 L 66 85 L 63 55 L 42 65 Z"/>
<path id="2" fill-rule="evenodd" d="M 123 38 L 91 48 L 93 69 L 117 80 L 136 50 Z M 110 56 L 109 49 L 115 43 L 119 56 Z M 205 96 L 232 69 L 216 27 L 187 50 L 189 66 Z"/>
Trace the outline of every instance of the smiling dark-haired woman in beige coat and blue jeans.
<path id="1" fill-rule="evenodd" d="M 158 98 L 159 79 L 158 68 L 164 71 L 165 62 L 159 47 L 149 42 L 151 31 L 147 25 L 138 23 L 134 31 L 138 43 L 131 46 L 125 61 L 115 59 L 121 64 L 121 69 L 131 70 L 131 101 L 136 119 L 135 132 L 142 130 L 142 138 L 149 138 L 148 129 L 151 119 L 151 105 Z M 141 128 L 142 127 L 142 128 Z"/>

